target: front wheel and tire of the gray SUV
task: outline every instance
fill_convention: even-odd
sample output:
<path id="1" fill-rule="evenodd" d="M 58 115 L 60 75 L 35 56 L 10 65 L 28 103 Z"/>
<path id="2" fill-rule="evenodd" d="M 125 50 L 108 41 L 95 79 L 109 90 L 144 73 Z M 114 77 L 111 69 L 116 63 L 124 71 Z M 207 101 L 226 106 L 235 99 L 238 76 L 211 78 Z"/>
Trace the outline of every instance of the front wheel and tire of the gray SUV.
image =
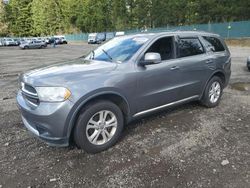
<path id="1" fill-rule="evenodd" d="M 100 123 L 101 114 L 103 114 L 103 116 L 106 114 L 106 125 Z M 96 124 L 94 125 L 91 123 L 93 122 L 91 120 L 93 120 Z M 105 126 L 108 125 L 116 126 L 105 128 Z M 78 148 L 81 148 L 88 153 L 101 152 L 110 148 L 118 141 L 123 130 L 123 125 L 123 114 L 117 105 L 110 101 L 96 101 L 87 105 L 80 112 L 76 126 L 74 128 L 75 144 Z M 93 128 L 93 126 L 95 126 L 95 128 Z M 108 134 L 106 133 L 109 133 L 110 137 L 108 137 Z M 106 140 L 104 137 L 106 137 Z"/>

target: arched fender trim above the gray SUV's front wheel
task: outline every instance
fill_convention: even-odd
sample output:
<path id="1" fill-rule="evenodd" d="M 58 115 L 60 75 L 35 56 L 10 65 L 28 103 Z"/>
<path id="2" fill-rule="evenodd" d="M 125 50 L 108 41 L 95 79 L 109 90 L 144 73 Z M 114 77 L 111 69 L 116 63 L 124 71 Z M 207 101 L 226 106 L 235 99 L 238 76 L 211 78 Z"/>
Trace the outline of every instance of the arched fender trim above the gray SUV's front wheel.
<path id="1" fill-rule="evenodd" d="M 112 88 L 112 90 L 111 90 L 111 88 L 105 88 L 105 90 L 103 90 L 103 88 L 102 88 L 102 89 L 92 91 L 92 92 L 84 95 L 82 98 L 80 98 L 75 103 L 75 105 L 73 106 L 73 108 L 70 111 L 70 113 L 69 113 L 69 115 L 67 117 L 67 120 L 66 120 L 66 126 L 65 126 L 65 129 L 64 129 L 64 134 L 67 135 L 67 138 L 69 138 L 70 135 L 71 135 L 71 131 L 72 131 L 73 127 L 74 127 L 74 123 L 75 123 L 75 120 L 77 118 L 77 114 L 79 113 L 79 111 L 82 109 L 82 107 L 88 101 L 90 101 L 90 100 L 92 100 L 92 99 L 94 99 L 94 98 L 96 98 L 98 96 L 107 95 L 107 94 L 113 94 L 113 95 L 120 96 L 126 102 L 126 104 L 128 106 L 128 114 L 130 114 L 130 106 L 129 106 L 129 103 L 128 103 L 126 97 L 124 95 L 122 95 L 120 92 L 115 91 L 114 88 Z"/>

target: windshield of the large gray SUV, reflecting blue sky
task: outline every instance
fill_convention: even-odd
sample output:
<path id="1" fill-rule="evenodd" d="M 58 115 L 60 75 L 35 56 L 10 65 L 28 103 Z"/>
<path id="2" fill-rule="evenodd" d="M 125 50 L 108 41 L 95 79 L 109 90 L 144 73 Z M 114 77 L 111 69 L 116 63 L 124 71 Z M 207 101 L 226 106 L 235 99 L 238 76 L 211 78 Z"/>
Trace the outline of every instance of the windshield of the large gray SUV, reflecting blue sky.
<path id="1" fill-rule="evenodd" d="M 148 41 L 145 37 L 118 37 L 92 51 L 86 59 L 124 62 L 129 60 Z"/>

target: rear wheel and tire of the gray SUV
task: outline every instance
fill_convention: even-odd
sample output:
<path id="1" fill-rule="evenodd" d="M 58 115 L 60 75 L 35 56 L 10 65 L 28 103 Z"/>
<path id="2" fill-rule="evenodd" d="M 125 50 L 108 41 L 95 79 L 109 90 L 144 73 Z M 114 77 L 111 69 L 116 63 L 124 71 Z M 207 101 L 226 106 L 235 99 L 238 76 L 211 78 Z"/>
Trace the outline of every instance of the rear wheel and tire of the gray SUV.
<path id="1" fill-rule="evenodd" d="M 222 93 L 223 93 L 222 80 L 218 76 L 214 76 L 207 83 L 206 89 L 201 99 L 201 103 L 207 108 L 216 107 L 220 103 Z"/>

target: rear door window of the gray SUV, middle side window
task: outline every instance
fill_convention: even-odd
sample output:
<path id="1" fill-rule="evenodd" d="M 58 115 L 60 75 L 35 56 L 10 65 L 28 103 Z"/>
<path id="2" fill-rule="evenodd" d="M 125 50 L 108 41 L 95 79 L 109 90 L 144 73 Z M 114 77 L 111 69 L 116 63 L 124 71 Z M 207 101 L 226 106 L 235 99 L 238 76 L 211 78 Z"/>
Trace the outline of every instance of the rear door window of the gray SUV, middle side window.
<path id="1" fill-rule="evenodd" d="M 204 53 L 198 38 L 181 38 L 178 42 L 178 57 L 188 57 Z"/>

